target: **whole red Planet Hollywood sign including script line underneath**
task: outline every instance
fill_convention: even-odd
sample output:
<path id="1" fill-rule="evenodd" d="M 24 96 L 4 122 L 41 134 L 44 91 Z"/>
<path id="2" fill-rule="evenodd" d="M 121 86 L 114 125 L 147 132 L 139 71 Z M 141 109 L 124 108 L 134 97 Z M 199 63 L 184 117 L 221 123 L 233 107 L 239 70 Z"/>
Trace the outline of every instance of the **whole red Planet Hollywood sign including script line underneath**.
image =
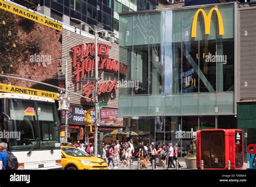
<path id="1" fill-rule="evenodd" d="M 118 60 L 109 58 L 109 51 L 111 46 L 98 44 L 97 47 L 98 69 L 112 71 L 113 73 L 118 73 L 119 71 L 120 74 L 126 75 L 126 64 L 119 63 Z M 81 44 L 72 47 L 71 51 L 73 52 L 72 74 L 76 77 L 76 82 L 79 82 L 82 78 L 84 78 L 86 72 L 95 70 L 95 45 L 92 43 L 87 43 L 85 48 L 85 45 Z M 98 84 L 98 95 L 117 90 L 117 85 L 118 81 L 116 79 Z M 85 97 L 90 97 L 93 91 L 95 91 L 94 82 L 87 82 L 85 85 L 83 85 L 83 92 Z M 85 99 L 85 102 L 90 102 L 90 99 Z"/>

